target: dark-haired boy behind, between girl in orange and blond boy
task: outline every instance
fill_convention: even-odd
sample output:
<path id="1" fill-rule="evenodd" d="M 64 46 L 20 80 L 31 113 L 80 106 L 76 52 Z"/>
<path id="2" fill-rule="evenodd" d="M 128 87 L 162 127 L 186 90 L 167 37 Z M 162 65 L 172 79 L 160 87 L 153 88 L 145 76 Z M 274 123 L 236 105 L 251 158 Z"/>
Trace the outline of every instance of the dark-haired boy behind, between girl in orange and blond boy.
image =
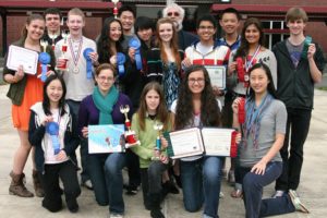
<path id="1" fill-rule="evenodd" d="M 61 12 L 57 8 L 49 8 L 44 13 L 46 20 L 47 31 L 43 37 L 44 40 L 47 40 L 49 45 L 55 45 L 62 39 L 60 32 L 60 21 Z"/>

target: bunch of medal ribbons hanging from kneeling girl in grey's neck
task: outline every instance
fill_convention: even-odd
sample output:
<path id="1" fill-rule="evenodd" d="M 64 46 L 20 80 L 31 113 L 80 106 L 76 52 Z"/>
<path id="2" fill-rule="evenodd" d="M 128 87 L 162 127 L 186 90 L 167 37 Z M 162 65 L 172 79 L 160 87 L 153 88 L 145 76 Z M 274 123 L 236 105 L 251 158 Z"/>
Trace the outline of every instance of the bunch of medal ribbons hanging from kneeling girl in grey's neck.
<path id="1" fill-rule="evenodd" d="M 253 146 L 257 148 L 258 146 L 258 134 L 261 130 L 261 120 L 265 110 L 270 106 L 274 97 L 270 94 L 267 94 L 265 98 L 262 100 L 258 107 L 255 106 L 254 99 L 246 99 L 245 102 L 245 111 L 246 111 L 246 119 L 245 122 L 242 124 L 242 129 L 244 130 L 244 145 L 247 146 L 247 138 L 251 134 L 253 138 Z"/>

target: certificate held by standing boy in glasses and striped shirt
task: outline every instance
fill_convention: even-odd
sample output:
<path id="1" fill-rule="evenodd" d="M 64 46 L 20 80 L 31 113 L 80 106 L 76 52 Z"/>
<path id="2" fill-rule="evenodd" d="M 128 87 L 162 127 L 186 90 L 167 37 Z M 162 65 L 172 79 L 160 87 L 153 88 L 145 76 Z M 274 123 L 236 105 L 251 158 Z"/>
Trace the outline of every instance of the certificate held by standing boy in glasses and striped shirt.
<path id="1" fill-rule="evenodd" d="M 209 73 L 211 85 L 226 89 L 226 68 L 223 65 L 205 65 Z"/>

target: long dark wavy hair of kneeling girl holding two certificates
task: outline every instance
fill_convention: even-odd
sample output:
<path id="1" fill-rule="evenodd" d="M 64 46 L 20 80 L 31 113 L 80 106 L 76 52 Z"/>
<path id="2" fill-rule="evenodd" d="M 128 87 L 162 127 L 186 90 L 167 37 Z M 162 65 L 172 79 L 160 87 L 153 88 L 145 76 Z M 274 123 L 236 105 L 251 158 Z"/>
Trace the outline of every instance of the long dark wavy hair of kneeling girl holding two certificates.
<path id="1" fill-rule="evenodd" d="M 193 123 L 192 92 L 189 88 L 189 76 L 195 71 L 202 71 L 205 87 L 201 94 L 201 122 L 204 126 L 220 125 L 220 109 L 216 100 L 208 71 L 203 65 L 192 65 L 185 70 L 185 76 L 180 85 L 177 110 L 175 130 L 184 129 Z"/>

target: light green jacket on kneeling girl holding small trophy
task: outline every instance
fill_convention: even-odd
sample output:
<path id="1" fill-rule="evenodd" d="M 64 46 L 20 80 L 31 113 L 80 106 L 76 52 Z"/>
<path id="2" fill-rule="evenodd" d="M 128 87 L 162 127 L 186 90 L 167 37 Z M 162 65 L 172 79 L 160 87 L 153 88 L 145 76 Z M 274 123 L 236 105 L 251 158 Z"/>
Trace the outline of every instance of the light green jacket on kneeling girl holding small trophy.
<path id="1" fill-rule="evenodd" d="M 135 131 L 141 145 L 131 147 L 131 149 L 140 157 L 140 168 L 148 168 L 154 157 L 154 150 L 156 147 L 156 140 L 158 132 L 154 129 L 155 120 L 146 117 L 145 130 L 142 131 L 138 124 L 138 114 L 134 113 L 132 119 L 132 130 Z M 167 131 L 171 131 L 171 123 L 169 122 Z M 164 150 L 166 153 L 166 150 Z"/>

